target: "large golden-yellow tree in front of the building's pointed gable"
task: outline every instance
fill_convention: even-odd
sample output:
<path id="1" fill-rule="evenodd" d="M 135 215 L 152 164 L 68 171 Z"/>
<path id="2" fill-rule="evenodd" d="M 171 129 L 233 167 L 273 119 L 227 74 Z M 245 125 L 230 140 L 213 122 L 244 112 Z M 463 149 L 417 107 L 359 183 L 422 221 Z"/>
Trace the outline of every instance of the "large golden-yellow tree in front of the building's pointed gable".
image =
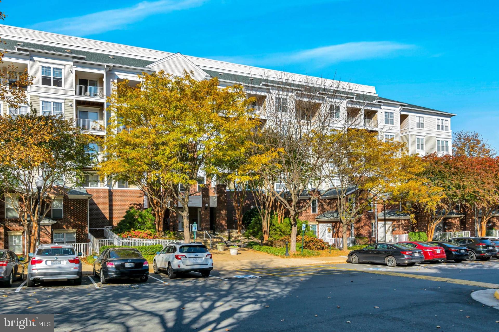
<path id="1" fill-rule="evenodd" d="M 163 230 L 167 209 L 184 222 L 190 241 L 189 194 L 197 191 L 200 171 L 214 154 L 230 159 L 237 137 L 256 123 L 242 86 L 221 88 L 218 80 L 197 81 L 192 73 L 174 76 L 163 71 L 139 75 L 136 87 L 116 84 L 109 97 L 112 111 L 99 173 L 126 180 L 143 190 Z M 181 190 L 182 188 L 182 190 Z"/>

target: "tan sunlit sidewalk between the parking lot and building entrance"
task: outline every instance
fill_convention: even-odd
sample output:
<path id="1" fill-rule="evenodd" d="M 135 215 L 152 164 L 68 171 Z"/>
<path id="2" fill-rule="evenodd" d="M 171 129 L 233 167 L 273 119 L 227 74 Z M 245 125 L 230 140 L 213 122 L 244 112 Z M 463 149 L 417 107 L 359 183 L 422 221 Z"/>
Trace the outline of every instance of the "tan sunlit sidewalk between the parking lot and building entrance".
<path id="1" fill-rule="evenodd" d="M 217 248 L 209 249 L 213 255 L 214 270 L 257 269 L 265 267 L 299 266 L 307 264 L 332 264 L 344 263 L 346 257 L 308 257 L 308 258 L 281 258 L 264 252 L 247 248 L 239 248 L 237 255 L 231 255 L 228 248 L 218 251 Z M 92 265 L 83 264 L 82 275 L 91 275 Z M 153 273 L 152 263 L 149 272 Z"/>

